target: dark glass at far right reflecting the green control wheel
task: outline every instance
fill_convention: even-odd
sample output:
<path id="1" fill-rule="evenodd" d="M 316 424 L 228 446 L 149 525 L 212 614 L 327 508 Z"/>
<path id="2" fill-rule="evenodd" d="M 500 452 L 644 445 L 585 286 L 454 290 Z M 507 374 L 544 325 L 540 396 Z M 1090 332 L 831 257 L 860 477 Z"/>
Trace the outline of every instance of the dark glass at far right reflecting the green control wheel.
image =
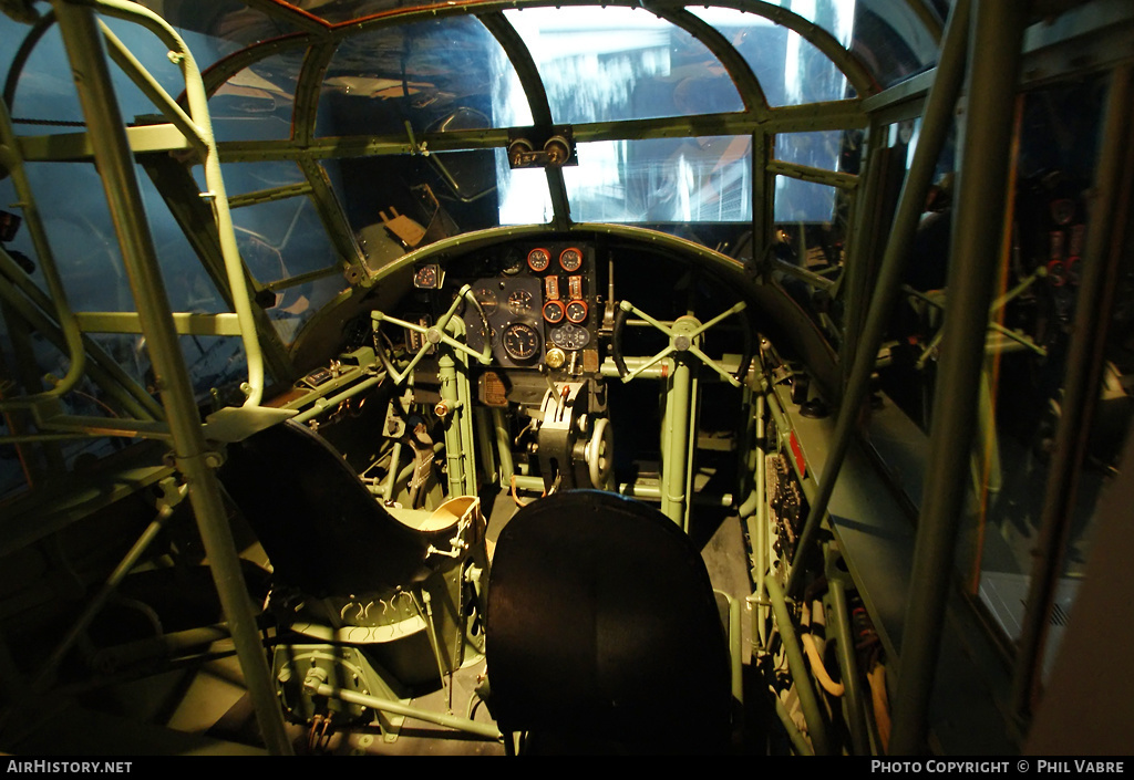
<path id="1" fill-rule="evenodd" d="M 1033 550 L 1044 516 L 1046 485 L 1074 464 L 1055 458 L 1064 416 L 1064 388 L 1073 323 L 1081 306 L 1083 251 L 1091 229 L 1098 171 L 1098 134 L 1106 98 L 1102 79 L 1057 86 L 1024 98 L 1013 231 L 1006 290 L 1023 291 L 997 311 L 987 381 L 989 421 L 981 427 L 982 478 L 976 528 L 983 535 L 973 561 L 982 603 L 1012 639 L 1019 635 Z M 1102 258 L 1098 258 L 1102 262 Z M 1129 291 L 1127 252 L 1120 283 Z M 1018 287 L 1017 287 L 1018 289 Z M 1122 295 L 1116 300 L 1128 300 Z M 1134 350 L 1128 306 L 1112 315 L 1103 351 L 1101 387 L 1086 463 L 1077 478 L 1056 584 L 1056 614 L 1072 610 L 1094 531 L 1099 495 L 1117 473 L 1118 453 L 1134 413 Z M 1089 418 L 1088 418 L 1089 419 Z M 1064 628 L 1053 624 L 1044 664 L 1050 665 Z"/>

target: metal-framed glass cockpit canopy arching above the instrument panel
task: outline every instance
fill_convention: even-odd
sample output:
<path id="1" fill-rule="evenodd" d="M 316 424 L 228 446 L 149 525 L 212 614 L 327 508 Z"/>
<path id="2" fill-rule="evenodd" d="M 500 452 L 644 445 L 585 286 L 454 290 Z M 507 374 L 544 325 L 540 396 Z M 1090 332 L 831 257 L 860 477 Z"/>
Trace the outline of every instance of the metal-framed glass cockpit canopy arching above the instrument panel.
<path id="1" fill-rule="evenodd" d="M 934 66 L 948 10 L 916 0 L 139 5 L 203 73 L 259 338 L 280 383 L 311 368 L 304 333 L 320 311 L 411 253 L 485 229 L 635 224 L 728 257 L 837 272 L 866 101 Z M 113 15 L 103 23 L 185 107 L 167 42 Z M 0 16 L 0 36 L 20 42 L 0 58 L 0 79 L 31 187 L 50 204 L 68 305 L 133 312 L 53 15 L 44 7 L 31 26 Z M 231 311 L 219 253 L 198 229 L 204 166 L 184 137 L 162 135 L 168 117 L 126 69 L 111 76 L 130 133 L 154 138 L 138 149 L 169 152 L 139 155 L 138 181 L 171 310 Z M 906 122 L 904 141 L 916 129 Z M 0 195 L 19 200 L 10 177 Z M 27 230 L 6 246 L 36 256 Z M 33 277 L 42 283 L 41 269 Z M 98 340 L 150 383 L 135 336 Z M 235 334 L 181 341 L 200 402 L 246 375 Z"/>

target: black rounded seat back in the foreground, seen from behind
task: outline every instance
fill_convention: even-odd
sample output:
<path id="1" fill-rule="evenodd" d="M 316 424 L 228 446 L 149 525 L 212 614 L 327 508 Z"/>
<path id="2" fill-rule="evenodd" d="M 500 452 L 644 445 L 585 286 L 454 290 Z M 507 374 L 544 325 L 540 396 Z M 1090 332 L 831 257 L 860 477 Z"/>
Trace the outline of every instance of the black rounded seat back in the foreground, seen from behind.
<path id="1" fill-rule="evenodd" d="M 570 491 L 521 509 L 489 580 L 488 705 L 535 753 L 723 753 L 729 648 L 701 554 L 661 512 Z"/>

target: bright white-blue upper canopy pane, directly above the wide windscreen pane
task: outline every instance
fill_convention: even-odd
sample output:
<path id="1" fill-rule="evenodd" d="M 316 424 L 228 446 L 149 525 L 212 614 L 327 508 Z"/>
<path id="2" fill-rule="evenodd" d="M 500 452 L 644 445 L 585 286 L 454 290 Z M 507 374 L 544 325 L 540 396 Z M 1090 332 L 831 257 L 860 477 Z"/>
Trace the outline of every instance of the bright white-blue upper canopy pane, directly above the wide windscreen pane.
<path id="1" fill-rule="evenodd" d="M 720 61 L 646 11 L 565 7 L 505 15 L 535 59 L 557 122 L 744 109 Z"/>

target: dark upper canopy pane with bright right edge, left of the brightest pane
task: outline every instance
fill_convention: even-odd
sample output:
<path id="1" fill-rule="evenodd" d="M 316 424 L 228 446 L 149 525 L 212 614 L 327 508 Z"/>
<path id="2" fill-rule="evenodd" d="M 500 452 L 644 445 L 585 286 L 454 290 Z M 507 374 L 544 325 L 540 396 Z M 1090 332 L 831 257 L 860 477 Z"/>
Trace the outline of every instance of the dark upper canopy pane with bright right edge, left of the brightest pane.
<path id="1" fill-rule="evenodd" d="M 530 125 L 527 98 L 491 33 L 472 17 L 380 27 L 335 52 L 319 101 L 320 136 Z"/>

